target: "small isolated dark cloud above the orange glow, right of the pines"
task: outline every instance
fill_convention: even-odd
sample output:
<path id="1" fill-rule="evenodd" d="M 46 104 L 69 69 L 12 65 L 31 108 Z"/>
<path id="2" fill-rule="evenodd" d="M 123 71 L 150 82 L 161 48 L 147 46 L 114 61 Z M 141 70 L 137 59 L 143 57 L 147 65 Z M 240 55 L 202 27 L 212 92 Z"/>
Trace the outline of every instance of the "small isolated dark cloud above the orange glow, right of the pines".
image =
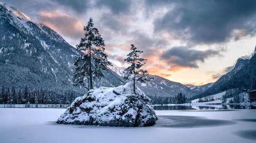
<path id="1" fill-rule="evenodd" d="M 198 68 L 198 62 L 204 62 L 205 58 L 220 56 L 219 51 L 215 50 L 193 50 L 187 47 L 174 47 L 165 51 L 161 58 L 170 65 L 171 69 L 180 67 Z"/>

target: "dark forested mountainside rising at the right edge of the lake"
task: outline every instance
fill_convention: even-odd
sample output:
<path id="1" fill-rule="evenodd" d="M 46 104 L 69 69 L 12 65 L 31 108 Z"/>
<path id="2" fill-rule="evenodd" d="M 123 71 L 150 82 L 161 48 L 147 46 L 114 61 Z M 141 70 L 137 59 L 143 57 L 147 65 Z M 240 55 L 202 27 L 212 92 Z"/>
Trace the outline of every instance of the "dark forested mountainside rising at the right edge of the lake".
<path id="1" fill-rule="evenodd" d="M 235 67 L 218 79 L 201 95 L 216 94 L 227 89 L 252 89 L 252 79 L 256 77 L 256 48 L 251 59 L 239 58 Z"/>

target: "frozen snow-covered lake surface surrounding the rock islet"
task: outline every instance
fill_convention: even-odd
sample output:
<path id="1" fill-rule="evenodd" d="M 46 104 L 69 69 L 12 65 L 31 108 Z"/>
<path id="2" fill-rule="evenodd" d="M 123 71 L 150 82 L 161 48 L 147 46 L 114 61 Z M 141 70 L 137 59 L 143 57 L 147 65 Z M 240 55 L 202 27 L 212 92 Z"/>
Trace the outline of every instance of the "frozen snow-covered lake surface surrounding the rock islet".
<path id="1" fill-rule="evenodd" d="M 0 108 L 0 143 L 255 143 L 256 110 L 156 111 L 152 127 L 55 124 L 64 108 Z"/>

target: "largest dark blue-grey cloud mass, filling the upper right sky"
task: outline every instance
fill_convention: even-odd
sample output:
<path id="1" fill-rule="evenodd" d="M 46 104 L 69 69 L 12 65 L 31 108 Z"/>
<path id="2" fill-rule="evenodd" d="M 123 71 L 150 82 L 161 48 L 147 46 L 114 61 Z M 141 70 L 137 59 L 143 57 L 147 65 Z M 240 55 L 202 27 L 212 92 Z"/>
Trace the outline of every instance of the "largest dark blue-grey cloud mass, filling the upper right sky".
<path id="1" fill-rule="evenodd" d="M 149 0 L 146 4 L 161 3 Z M 216 43 L 239 39 L 256 28 L 256 0 L 180 0 L 173 4 L 173 10 L 155 20 L 155 32 L 167 31 L 195 43 Z M 238 32 L 233 35 L 233 30 Z"/>

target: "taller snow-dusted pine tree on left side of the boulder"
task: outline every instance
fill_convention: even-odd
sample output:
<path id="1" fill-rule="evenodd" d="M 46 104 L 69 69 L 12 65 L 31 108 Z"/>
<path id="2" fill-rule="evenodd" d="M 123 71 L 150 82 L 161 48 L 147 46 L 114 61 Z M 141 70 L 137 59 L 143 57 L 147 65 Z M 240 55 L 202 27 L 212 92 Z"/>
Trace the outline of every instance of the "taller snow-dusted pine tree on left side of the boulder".
<path id="1" fill-rule="evenodd" d="M 99 30 L 94 27 L 92 18 L 83 30 L 85 37 L 81 38 L 76 48 L 85 54 L 76 57 L 74 61 L 73 84 L 81 85 L 85 89 L 93 89 L 92 78 L 101 78 L 103 76 L 101 70 L 106 70 L 107 66 L 111 66 L 111 62 L 107 59 L 108 55 L 104 53 L 104 40 L 101 38 Z M 86 79 L 88 87 L 86 87 Z"/>

